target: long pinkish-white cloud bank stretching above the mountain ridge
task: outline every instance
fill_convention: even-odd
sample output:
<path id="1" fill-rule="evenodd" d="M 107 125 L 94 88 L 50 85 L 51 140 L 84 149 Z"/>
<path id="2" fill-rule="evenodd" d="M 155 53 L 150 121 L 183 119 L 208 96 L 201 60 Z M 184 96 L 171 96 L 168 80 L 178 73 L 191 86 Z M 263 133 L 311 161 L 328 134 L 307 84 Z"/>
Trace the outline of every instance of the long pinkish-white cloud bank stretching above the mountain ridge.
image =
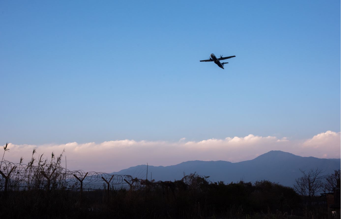
<path id="1" fill-rule="evenodd" d="M 5 153 L 4 159 L 17 163 L 23 156 L 24 163 L 28 163 L 33 148 L 37 149 L 37 155 L 44 153 L 48 158 L 52 152 L 60 154 L 65 149 L 63 165 L 66 156 L 68 169 L 109 173 L 147 162 L 153 166 L 175 165 L 190 160 L 239 162 L 253 159 L 270 150 L 281 150 L 300 156 L 340 158 L 340 139 L 340 132 L 327 131 L 302 140 L 250 134 L 245 137 L 202 141 L 187 141 L 186 138 L 181 138 L 176 142 L 125 139 L 85 144 L 70 142 L 61 145 L 10 143 L 10 152 Z"/>

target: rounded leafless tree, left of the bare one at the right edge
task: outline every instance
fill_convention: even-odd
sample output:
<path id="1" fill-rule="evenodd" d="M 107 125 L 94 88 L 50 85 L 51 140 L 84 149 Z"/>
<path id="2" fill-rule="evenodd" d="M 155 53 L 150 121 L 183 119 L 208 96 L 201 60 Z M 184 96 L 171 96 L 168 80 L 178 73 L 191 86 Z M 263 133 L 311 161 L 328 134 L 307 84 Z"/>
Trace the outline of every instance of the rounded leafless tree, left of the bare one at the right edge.
<path id="1" fill-rule="evenodd" d="M 303 176 L 296 179 L 294 190 L 302 196 L 308 197 L 309 206 L 311 201 L 315 198 L 317 192 L 321 191 L 324 185 L 324 172 L 322 169 L 310 169 L 308 173 L 305 170 L 301 170 Z"/>

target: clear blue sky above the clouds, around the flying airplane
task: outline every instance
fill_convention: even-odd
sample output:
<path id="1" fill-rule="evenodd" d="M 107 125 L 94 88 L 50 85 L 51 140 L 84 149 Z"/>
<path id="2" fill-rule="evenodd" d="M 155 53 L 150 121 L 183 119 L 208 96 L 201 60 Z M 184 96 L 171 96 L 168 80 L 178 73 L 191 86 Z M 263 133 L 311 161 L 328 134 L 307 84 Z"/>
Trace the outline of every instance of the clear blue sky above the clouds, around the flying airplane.
<path id="1" fill-rule="evenodd" d="M 340 132 L 339 1 L 2 1 L 0 30 L 3 144 Z"/>

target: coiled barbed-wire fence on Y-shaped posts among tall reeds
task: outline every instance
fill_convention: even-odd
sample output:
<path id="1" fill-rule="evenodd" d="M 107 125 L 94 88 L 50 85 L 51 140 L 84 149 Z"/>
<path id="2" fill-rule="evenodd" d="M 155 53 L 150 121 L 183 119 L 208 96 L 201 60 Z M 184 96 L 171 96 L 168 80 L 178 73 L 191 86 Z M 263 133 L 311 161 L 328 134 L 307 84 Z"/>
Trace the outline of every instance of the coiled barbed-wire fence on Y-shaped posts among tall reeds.
<path id="1" fill-rule="evenodd" d="M 130 189 L 139 184 L 131 175 L 68 170 L 58 164 L 25 165 L 3 161 L 0 165 L 0 190 L 24 189 Z M 136 183 L 137 182 L 137 183 Z"/>

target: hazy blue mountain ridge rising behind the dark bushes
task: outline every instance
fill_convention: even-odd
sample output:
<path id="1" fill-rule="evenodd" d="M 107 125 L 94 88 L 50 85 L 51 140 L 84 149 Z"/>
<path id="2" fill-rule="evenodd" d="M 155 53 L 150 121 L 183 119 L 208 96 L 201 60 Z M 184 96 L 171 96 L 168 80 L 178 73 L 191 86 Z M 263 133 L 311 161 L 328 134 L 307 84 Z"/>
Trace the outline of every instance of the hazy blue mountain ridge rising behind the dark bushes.
<path id="1" fill-rule="evenodd" d="M 269 151 L 250 161 L 231 163 L 228 161 L 187 161 L 172 166 L 148 166 L 148 179 L 150 172 L 156 181 L 181 180 L 183 173 L 198 173 L 210 176 L 212 182 L 224 181 L 225 183 L 255 182 L 269 180 L 285 186 L 292 186 L 295 179 L 302 176 L 301 170 L 319 168 L 329 174 L 340 169 L 340 159 L 321 159 L 316 157 L 301 157 L 283 151 Z M 139 179 L 146 178 L 147 165 L 130 167 L 113 174 L 132 175 Z"/>

